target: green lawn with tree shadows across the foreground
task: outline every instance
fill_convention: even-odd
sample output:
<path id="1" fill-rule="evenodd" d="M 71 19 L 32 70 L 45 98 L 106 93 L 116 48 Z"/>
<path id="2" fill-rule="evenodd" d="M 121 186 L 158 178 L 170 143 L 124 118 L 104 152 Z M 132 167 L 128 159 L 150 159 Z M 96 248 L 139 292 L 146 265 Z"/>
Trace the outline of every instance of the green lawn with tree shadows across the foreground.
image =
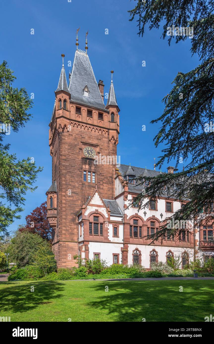
<path id="1" fill-rule="evenodd" d="M 213 289 L 214 280 L 0 282 L 0 316 L 11 321 L 204 322 L 213 314 Z"/>

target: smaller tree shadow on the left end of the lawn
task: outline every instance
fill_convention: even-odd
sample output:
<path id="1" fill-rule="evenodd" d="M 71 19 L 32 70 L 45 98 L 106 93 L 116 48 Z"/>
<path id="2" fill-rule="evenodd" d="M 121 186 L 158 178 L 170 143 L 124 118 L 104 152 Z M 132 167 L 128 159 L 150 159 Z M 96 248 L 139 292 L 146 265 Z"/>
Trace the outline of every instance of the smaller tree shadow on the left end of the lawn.
<path id="1" fill-rule="evenodd" d="M 26 312 L 41 304 L 51 303 L 63 296 L 64 285 L 56 281 L 26 281 L 25 283 L 1 282 L 6 288 L 0 290 L 0 312 Z M 8 287 L 7 287 L 8 286 Z M 31 292 L 31 286 L 34 292 Z"/>

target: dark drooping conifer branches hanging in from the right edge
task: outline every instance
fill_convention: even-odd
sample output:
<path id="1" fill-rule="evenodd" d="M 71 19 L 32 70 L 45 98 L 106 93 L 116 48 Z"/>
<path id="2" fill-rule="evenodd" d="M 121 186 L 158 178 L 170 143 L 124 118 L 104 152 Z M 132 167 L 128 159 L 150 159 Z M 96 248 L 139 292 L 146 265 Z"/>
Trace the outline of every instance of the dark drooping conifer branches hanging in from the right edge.
<path id="1" fill-rule="evenodd" d="M 191 39 L 192 55 L 197 53 L 201 64 L 188 73 L 179 72 L 174 86 L 163 98 L 163 114 L 151 123 L 161 121 L 161 129 L 155 136 L 155 146 L 165 144 L 157 166 L 175 159 L 176 167 L 183 161 L 186 166 L 179 173 L 161 173 L 144 178 L 148 186 L 136 201 L 140 208 L 148 207 L 150 198 L 161 195 L 177 200 L 187 200 L 182 209 L 175 212 L 174 220 L 191 220 L 200 225 L 202 221 L 213 222 L 214 212 L 214 3 L 213 1 L 167 0 L 138 1 L 129 11 L 131 21 L 137 17 L 139 35 L 163 24 L 163 39 L 174 25 L 176 33 L 194 32 Z M 183 30 L 184 29 L 184 30 Z M 173 36 L 169 35 L 170 45 Z M 185 41 L 188 35 L 175 35 L 175 41 Z M 212 124 L 213 123 L 213 124 Z M 189 159 L 189 160 L 188 160 Z M 187 163 L 187 160 L 190 161 Z M 137 181 L 142 185 L 142 178 Z M 146 195 L 145 195 L 146 194 Z M 170 218 L 168 218 L 170 219 Z M 166 235 L 167 227 L 149 236 L 154 242 Z M 172 228 L 171 234 L 180 235 L 181 228 Z"/>

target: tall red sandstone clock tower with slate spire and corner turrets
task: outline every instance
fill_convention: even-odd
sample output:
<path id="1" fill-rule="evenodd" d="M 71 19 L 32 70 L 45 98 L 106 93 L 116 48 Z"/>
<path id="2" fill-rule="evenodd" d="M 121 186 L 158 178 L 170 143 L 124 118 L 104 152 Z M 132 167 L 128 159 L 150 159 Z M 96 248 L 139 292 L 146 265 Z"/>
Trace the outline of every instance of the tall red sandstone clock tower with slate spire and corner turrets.
<path id="1" fill-rule="evenodd" d="M 103 81 L 97 84 L 87 50 L 77 49 L 69 84 L 62 65 L 49 124 L 52 185 L 46 192 L 47 217 L 58 267 L 76 266 L 78 214 L 95 190 L 101 198 L 114 200 L 117 166 L 108 162 L 117 159 L 119 111 L 112 78 L 105 105 Z"/>

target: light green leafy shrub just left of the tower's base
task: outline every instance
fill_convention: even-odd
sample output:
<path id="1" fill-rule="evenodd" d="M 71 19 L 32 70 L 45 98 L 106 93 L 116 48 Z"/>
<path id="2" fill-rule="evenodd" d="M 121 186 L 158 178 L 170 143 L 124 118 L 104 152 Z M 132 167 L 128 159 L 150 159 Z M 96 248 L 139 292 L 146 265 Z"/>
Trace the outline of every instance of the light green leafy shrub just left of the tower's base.
<path id="1" fill-rule="evenodd" d="M 35 265 L 43 271 L 44 276 L 56 270 L 56 260 L 54 259 L 51 246 L 47 242 L 45 245 L 44 242 L 42 245 L 39 245 L 34 261 Z"/>

